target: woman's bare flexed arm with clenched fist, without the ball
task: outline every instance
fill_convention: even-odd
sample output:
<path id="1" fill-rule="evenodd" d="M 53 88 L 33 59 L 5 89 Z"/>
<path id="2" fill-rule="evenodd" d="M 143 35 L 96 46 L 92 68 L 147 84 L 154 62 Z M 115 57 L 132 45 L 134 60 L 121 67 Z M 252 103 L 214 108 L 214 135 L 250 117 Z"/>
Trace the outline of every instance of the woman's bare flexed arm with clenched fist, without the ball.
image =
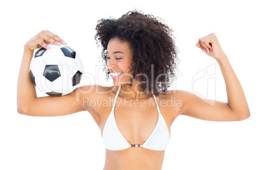
<path id="1" fill-rule="evenodd" d="M 215 34 L 199 39 L 197 47 L 215 58 L 220 65 L 227 90 L 227 103 L 203 99 L 187 91 L 179 91 L 183 98 L 181 114 L 207 121 L 240 121 L 250 117 L 243 88 Z M 208 104 L 213 102 L 215 102 L 214 106 Z"/>

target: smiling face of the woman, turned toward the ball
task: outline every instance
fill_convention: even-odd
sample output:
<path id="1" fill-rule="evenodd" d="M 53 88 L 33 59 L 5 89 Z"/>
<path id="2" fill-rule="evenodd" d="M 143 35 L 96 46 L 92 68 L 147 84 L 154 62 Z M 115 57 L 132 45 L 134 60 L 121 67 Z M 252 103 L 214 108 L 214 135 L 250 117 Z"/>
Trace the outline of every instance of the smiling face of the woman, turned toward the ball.
<path id="1" fill-rule="evenodd" d="M 129 72 L 129 67 L 132 63 L 132 51 L 128 42 L 122 42 L 118 38 L 110 39 L 107 55 L 107 69 L 111 72 L 113 84 L 115 86 L 130 84 L 132 73 Z"/>

